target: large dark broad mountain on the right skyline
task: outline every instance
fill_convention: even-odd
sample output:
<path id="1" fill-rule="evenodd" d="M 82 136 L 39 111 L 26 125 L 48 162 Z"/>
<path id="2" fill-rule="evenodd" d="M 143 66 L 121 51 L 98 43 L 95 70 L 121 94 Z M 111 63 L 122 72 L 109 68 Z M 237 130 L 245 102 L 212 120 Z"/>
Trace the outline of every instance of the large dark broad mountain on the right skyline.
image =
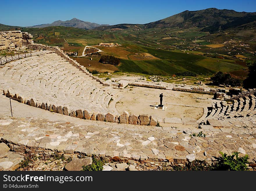
<path id="1" fill-rule="evenodd" d="M 180 27 L 203 28 L 202 31 L 216 33 L 220 30 L 241 26 L 256 21 L 256 12 L 236 12 L 209 8 L 198 11 L 184 11 L 165 19 L 147 23 L 145 28 Z"/>

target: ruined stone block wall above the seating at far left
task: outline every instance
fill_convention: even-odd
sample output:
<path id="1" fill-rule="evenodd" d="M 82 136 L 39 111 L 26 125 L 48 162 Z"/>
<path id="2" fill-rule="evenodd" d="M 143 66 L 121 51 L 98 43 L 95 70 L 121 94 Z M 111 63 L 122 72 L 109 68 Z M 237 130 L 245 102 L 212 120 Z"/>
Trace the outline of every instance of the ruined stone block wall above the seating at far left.
<path id="1" fill-rule="evenodd" d="M 21 47 L 23 43 L 33 43 L 32 35 L 20 30 L 0 32 L 0 50 Z"/>

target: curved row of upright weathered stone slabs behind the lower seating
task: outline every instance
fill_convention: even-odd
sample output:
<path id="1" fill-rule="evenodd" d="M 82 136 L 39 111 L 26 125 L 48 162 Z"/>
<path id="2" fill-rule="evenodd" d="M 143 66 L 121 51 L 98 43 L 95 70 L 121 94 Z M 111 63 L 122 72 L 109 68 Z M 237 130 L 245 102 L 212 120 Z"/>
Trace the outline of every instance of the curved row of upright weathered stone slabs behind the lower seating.
<path id="1" fill-rule="evenodd" d="M 69 110 L 67 107 L 57 106 L 47 102 L 37 102 L 33 98 L 22 98 L 21 96 L 19 96 L 19 94 L 9 92 L 9 90 L 3 90 L 3 95 L 26 105 L 30 105 L 43 110 L 48 110 L 50 112 L 69 115 L 71 117 L 77 117 L 80 119 L 152 126 L 156 126 L 158 122 L 158 119 L 155 116 L 149 116 L 147 114 L 140 114 L 139 116 L 136 116 L 134 114 L 129 114 L 127 111 L 124 111 L 124 113 L 120 116 L 115 116 L 111 113 L 90 113 L 86 109 Z"/>

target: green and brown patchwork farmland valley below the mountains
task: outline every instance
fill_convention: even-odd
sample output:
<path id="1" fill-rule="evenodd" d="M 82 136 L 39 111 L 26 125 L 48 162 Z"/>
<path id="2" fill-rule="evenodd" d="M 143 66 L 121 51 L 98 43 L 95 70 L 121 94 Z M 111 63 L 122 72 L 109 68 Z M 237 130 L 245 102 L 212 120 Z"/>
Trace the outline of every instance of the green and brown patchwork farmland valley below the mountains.
<path id="1" fill-rule="evenodd" d="M 138 26 L 140 27 L 140 25 Z M 8 29 L 7 26 L 0 26 L 1 28 Z M 131 25 L 122 30 L 84 30 L 62 26 L 21 28 L 19 30 L 31 33 L 35 43 L 59 46 L 64 48 L 64 51 L 77 52 L 80 49 L 81 52 L 82 47 L 97 45 L 101 42 L 121 44 L 122 46 L 119 47 L 120 49 L 116 49 L 117 51 L 102 47 L 105 50 L 102 54 L 121 58 L 118 68 L 122 72 L 172 75 L 176 72 L 192 71 L 209 77 L 217 71 L 238 74 L 235 71 L 246 68 L 235 64 L 235 60 L 239 60 L 239 58 L 235 59 L 233 56 L 239 53 L 238 50 L 228 53 L 230 50 L 225 46 L 220 48 L 206 46 L 224 43 L 233 37 L 242 40 L 241 37 L 234 34 L 209 34 L 196 27 L 190 29 L 177 27 L 140 29 Z M 58 36 L 55 36 L 56 34 Z M 248 44 L 252 47 L 255 46 L 253 41 Z M 140 61 L 131 60 L 132 57 L 129 57 L 139 53 L 152 54 L 158 60 Z M 225 59 L 216 59 L 216 55 L 220 54 L 228 56 L 224 56 Z M 246 55 L 248 59 L 255 57 L 249 52 L 244 52 L 243 55 Z"/>

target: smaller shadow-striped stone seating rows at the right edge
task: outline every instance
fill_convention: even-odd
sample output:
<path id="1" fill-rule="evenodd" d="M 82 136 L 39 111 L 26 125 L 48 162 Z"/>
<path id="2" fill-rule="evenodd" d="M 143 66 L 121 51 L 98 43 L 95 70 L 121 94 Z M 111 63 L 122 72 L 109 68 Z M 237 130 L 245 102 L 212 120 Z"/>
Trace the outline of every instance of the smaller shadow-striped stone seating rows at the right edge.
<path id="1" fill-rule="evenodd" d="M 227 104 L 226 101 L 214 102 L 208 109 L 208 114 L 203 119 L 204 123 L 207 123 L 208 119 L 218 119 L 228 121 L 235 126 L 256 127 L 256 97 L 254 94 L 240 97 L 232 104 Z"/>

